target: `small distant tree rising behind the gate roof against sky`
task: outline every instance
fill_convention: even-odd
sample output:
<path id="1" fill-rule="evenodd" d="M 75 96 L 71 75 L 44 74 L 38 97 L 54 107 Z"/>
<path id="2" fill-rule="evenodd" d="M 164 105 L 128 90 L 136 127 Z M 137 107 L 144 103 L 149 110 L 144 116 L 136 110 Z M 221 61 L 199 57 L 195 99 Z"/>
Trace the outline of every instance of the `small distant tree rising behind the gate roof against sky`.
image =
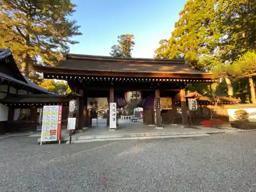
<path id="1" fill-rule="evenodd" d="M 135 45 L 133 34 L 122 34 L 117 37 L 118 45 L 111 47 L 110 55 L 112 57 L 132 57 L 133 47 Z"/>

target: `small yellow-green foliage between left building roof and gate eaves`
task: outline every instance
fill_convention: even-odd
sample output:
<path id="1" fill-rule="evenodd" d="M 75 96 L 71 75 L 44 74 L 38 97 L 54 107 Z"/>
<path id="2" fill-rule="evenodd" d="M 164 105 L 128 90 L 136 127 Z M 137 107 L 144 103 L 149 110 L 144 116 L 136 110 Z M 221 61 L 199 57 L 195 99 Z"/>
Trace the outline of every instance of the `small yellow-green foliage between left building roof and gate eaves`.
<path id="1" fill-rule="evenodd" d="M 68 83 L 64 81 L 54 81 L 47 79 L 41 82 L 39 85 L 47 89 L 48 91 L 54 92 L 59 95 L 71 93 L 71 89 L 68 86 Z"/>

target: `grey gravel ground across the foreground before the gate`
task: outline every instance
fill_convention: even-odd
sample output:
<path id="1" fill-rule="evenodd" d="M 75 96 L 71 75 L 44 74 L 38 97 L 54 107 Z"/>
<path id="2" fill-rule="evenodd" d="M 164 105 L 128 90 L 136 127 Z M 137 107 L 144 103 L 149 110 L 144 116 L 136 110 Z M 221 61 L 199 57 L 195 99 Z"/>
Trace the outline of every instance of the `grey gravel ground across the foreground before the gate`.
<path id="1" fill-rule="evenodd" d="M 256 191 L 256 132 L 36 144 L 0 139 L 0 191 Z"/>

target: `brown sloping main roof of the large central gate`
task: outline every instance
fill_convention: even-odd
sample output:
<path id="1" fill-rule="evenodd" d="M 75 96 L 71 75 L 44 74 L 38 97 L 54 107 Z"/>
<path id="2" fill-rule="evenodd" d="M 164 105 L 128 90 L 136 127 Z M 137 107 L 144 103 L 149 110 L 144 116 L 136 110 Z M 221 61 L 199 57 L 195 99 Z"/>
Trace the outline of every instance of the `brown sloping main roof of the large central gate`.
<path id="1" fill-rule="evenodd" d="M 208 74 L 179 59 L 140 59 L 68 54 L 54 67 L 59 69 L 132 73 Z"/>

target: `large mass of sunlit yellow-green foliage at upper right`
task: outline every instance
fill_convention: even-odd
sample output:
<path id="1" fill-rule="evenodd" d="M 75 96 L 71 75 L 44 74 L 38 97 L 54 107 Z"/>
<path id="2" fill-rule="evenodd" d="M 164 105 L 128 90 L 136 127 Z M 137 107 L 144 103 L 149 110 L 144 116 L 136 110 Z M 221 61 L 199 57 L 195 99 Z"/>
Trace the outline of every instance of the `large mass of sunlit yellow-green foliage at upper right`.
<path id="1" fill-rule="evenodd" d="M 255 49 L 255 9 L 256 1 L 188 0 L 172 37 L 160 41 L 155 57 L 184 58 L 204 71 L 232 63 Z"/>

